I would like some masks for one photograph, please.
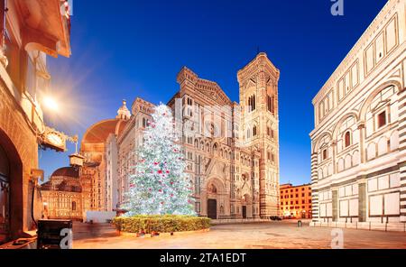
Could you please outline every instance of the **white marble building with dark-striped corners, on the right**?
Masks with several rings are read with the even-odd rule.
[[[406,222],[405,7],[388,1],[313,99],[314,222]]]

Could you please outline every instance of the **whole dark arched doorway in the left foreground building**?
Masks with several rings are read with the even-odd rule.
[[[0,244],[23,232],[23,162],[0,129]]]

